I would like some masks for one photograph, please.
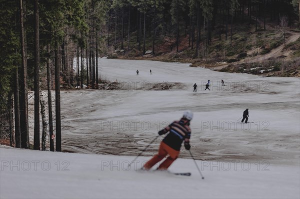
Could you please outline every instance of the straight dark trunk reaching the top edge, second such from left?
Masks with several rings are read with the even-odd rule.
[[[39,10],[34,0],[34,141],[33,149],[40,150],[39,141]]]

